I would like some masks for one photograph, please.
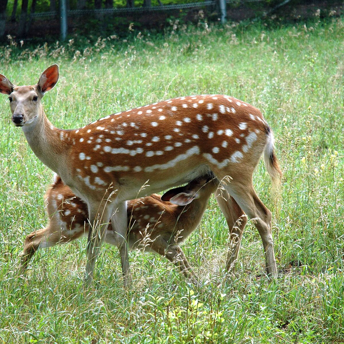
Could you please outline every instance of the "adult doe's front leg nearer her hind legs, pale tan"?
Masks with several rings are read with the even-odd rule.
[[[125,288],[128,288],[131,284],[131,276],[129,268],[128,244],[126,241],[128,227],[127,202],[125,201],[118,203],[114,209],[115,213],[111,217],[111,225],[115,237],[115,243],[121,256],[123,284]]]

